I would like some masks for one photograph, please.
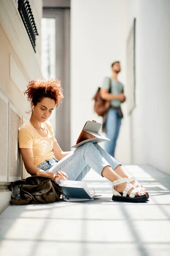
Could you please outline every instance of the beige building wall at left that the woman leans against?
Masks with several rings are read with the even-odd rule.
[[[23,19],[19,2],[32,14],[32,29],[37,28],[35,51]],[[27,1],[28,2],[28,1]],[[31,17],[30,17],[31,18]],[[0,212],[11,199],[8,185],[26,177],[18,148],[18,128],[28,119],[28,103],[23,96],[26,84],[40,77],[42,0],[0,1]],[[35,24],[35,25],[34,25]]]

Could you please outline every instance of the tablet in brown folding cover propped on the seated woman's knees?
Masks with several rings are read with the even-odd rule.
[[[110,141],[108,138],[99,134],[101,126],[102,124],[96,121],[87,121],[78,137],[76,145],[72,146],[71,148],[77,148],[86,142],[100,143],[103,141]]]

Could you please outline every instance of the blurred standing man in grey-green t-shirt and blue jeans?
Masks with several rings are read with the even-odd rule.
[[[111,65],[112,76],[104,79],[100,96],[102,99],[111,102],[105,122],[106,136],[111,140],[105,142],[105,150],[114,157],[116,140],[119,135],[120,125],[122,121],[121,103],[125,102],[123,84],[118,81],[118,74],[121,71],[120,62],[115,61]],[[111,92],[111,93],[109,93]]]

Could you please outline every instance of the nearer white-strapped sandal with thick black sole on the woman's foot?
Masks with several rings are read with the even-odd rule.
[[[117,192],[114,187],[118,186],[119,184],[127,183],[127,186],[125,187],[124,191],[122,193]],[[130,195],[127,195],[127,193],[130,191],[130,189],[133,189],[130,193]],[[132,184],[130,184],[127,181],[127,178],[123,178],[120,180],[114,180],[113,181],[113,201],[123,201],[123,202],[131,202],[131,203],[139,203],[139,202],[145,202],[148,200],[147,195],[136,195],[139,192],[138,189],[136,189]]]

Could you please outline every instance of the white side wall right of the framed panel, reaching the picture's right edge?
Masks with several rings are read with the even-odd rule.
[[[170,173],[170,1],[129,0],[127,12],[127,26],[136,17],[133,161]]]

